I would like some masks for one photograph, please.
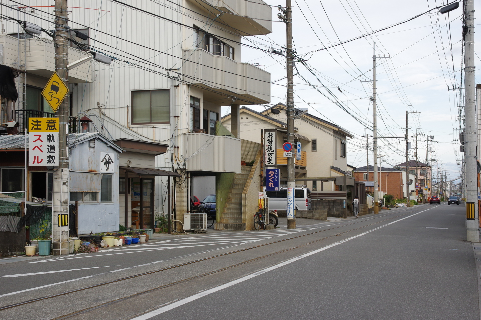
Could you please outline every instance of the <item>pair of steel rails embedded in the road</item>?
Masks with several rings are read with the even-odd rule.
[[[410,209],[410,208],[406,208],[406,209],[403,209],[403,211],[404,211],[404,210],[409,210],[409,209]],[[359,227],[359,228],[354,228],[354,229],[351,229],[351,230],[343,231],[343,232],[340,232],[340,233],[338,233],[338,234],[331,235],[331,236],[329,236],[329,237],[324,237],[324,238],[321,238],[321,239],[317,239],[317,240],[315,240],[315,241],[313,241],[313,242],[304,243],[304,244],[301,244],[301,245],[299,245],[299,246],[295,246],[295,247],[292,247],[292,248],[289,248],[289,249],[285,249],[285,250],[282,250],[282,251],[278,251],[278,252],[275,252],[275,253],[272,253],[272,254],[269,254],[269,255],[266,255],[266,256],[261,256],[261,257],[258,257],[258,258],[252,259],[252,260],[244,261],[244,262],[242,262],[242,263],[240,263],[240,264],[236,264],[236,265],[233,265],[233,266],[229,266],[229,267],[226,267],[226,268],[224,268],[224,269],[215,270],[215,271],[212,271],[212,272],[209,272],[209,273],[206,273],[206,274],[202,274],[202,275],[199,275],[199,276],[196,276],[196,277],[193,277],[193,278],[184,279],[184,280],[181,280],[181,281],[179,281],[179,282],[173,282],[173,283],[167,284],[167,285],[165,285],[165,286],[161,286],[161,287],[153,288],[153,289],[150,289],[150,290],[147,290],[147,291],[143,291],[143,292],[140,292],[140,293],[137,293],[137,294],[133,294],[133,295],[130,295],[130,296],[128,296],[128,297],[121,298],[121,299],[118,299],[118,300],[115,300],[115,301],[111,301],[111,302],[108,302],[108,303],[106,303],[106,304],[102,304],[102,305],[100,305],[100,306],[96,306],[96,307],[93,307],[93,308],[89,308],[89,309],[87,309],[87,310],[80,311],[80,312],[83,313],[83,312],[87,312],[87,311],[93,310],[94,308],[105,307],[105,306],[107,306],[107,304],[111,304],[111,303],[115,303],[115,302],[118,302],[118,301],[122,301],[122,300],[124,300],[124,299],[130,298],[130,297],[133,297],[133,296],[137,296],[137,295],[140,295],[140,294],[145,294],[145,293],[148,293],[148,292],[151,292],[151,291],[154,291],[154,290],[159,290],[159,289],[162,289],[162,288],[165,288],[165,287],[174,285],[174,284],[178,284],[178,283],[190,281],[190,280],[192,280],[192,279],[196,279],[196,278],[199,278],[199,277],[203,277],[203,276],[206,276],[206,275],[209,275],[209,274],[212,274],[212,273],[215,273],[215,272],[219,272],[219,271],[222,271],[222,270],[225,270],[225,269],[234,268],[234,267],[236,267],[236,266],[238,266],[238,265],[241,265],[241,264],[244,264],[244,263],[252,262],[252,261],[255,261],[255,260],[258,260],[258,259],[267,257],[267,256],[272,256],[272,255],[276,255],[276,254],[278,254],[278,253],[282,253],[282,252],[285,252],[285,251],[288,251],[288,250],[296,249],[296,248],[299,248],[299,247],[304,246],[304,245],[307,245],[307,244],[315,243],[315,242],[317,242],[317,241],[329,239],[329,238],[331,238],[331,237],[338,236],[338,235],[341,235],[341,234],[346,233],[346,232],[351,232],[351,231],[354,231],[354,230],[358,230],[358,229],[361,229],[361,228],[365,228],[365,227],[368,227],[368,226],[371,226],[371,225],[374,225],[374,224],[377,224],[377,223],[386,221],[386,220],[390,220],[390,219],[393,219],[393,218],[401,217],[401,216],[404,216],[404,215],[406,215],[406,214],[408,214],[408,213],[410,213],[410,212],[405,212],[405,213],[403,213],[402,215],[399,215],[399,216],[395,216],[395,217],[392,217],[392,218],[388,218],[388,219],[384,219],[384,220],[381,220],[381,221],[377,221],[377,222],[374,222],[374,223],[371,223],[371,224],[368,224],[368,225],[365,225],[365,226],[362,226],[362,227]],[[384,215],[383,217],[388,216],[388,215],[393,215],[393,214],[395,214],[395,213],[393,212],[393,213],[390,213],[390,214],[386,214],[386,215]],[[149,275],[149,274],[156,273],[156,272],[161,272],[161,271],[165,271],[165,270],[169,270],[169,269],[179,268],[179,267],[187,266],[187,265],[190,265],[190,264],[193,264],[193,263],[202,262],[202,261],[205,261],[205,260],[217,258],[217,257],[220,257],[220,256],[227,256],[227,255],[230,255],[230,254],[235,254],[235,253],[238,253],[238,252],[243,252],[243,251],[247,251],[247,250],[259,248],[259,247],[262,247],[262,246],[265,246],[265,245],[269,245],[269,244],[279,243],[279,242],[283,242],[283,241],[288,241],[288,240],[292,240],[292,239],[296,239],[296,238],[308,236],[308,235],[311,235],[311,234],[316,234],[316,233],[323,232],[323,231],[328,231],[328,230],[333,230],[333,229],[337,229],[337,228],[341,228],[341,227],[346,227],[346,226],[350,226],[350,225],[353,225],[353,224],[356,224],[356,223],[360,223],[360,222],[365,222],[365,221],[368,221],[368,220],[372,220],[372,219],[375,219],[375,218],[378,218],[378,217],[368,218],[368,219],[366,219],[366,220],[355,221],[355,222],[348,223],[348,224],[345,224],[345,225],[342,225],[342,226],[337,226],[337,227],[332,227],[332,228],[329,228],[329,229],[323,229],[323,230],[319,230],[319,231],[315,231],[315,232],[310,232],[310,233],[306,233],[306,234],[301,234],[301,235],[298,235],[298,236],[290,237],[290,238],[287,238],[287,239],[281,239],[281,240],[273,241],[273,242],[270,242],[270,243],[259,244],[259,245],[256,245],[256,246],[253,246],[253,247],[250,247],[250,248],[244,248],[244,249],[235,250],[235,251],[232,251],[232,252],[228,252],[228,253],[224,253],[224,254],[220,254],[220,255],[216,255],[216,256],[211,256],[211,257],[206,257],[206,258],[202,258],[202,259],[198,259],[198,260],[194,260],[194,261],[190,261],[190,262],[185,262],[185,263],[181,263],[181,264],[174,265],[174,266],[171,266],[171,267],[166,267],[166,268],[157,269],[157,270],[153,270],[153,271],[143,272],[143,273],[135,274],[135,275],[128,276],[128,277],[119,278],[119,279],[116,279],[116,280],[113,280],[113,281],[101,282],[101,283],[94,284],[94,285],[90,285],[90,286],[87,286],[87,287],[83,287],[83,288],[79,288],[79,289],[75,289],[75,290],[70,290],[70,291],[65,291],[65,292],[62,292],[62,293],[59,293],[59,294],[51,294],[51,295],[44,296],[44,297],[40,297],[40,298],[37,298],[37,299],[27,300],[27,301],[20,302],[20,303],[17,303],[17,304],[5,306],[5,307],[0,307],[0,311],[1,311],[1,310],[5,310],[5,309],[9,309],[9,308],[13,308],[13,307],[23,306],[23,305],[26,305],[26,304],[30,304],[30,303],[37,302],[37,301],[41,301],[41,300],[45,300],[45,299],[50,299],[50,298],[62,296],[62,295],[65,295],[65,294],[72,294],[72,293],[75,293],[75,292],[79,292],[79,291],[83,291],[83,290],[87,290],[87,289],[92,289],[92,288],[100,287],[100,286],[103,286],[103,285],[106,285],[106,284],[110,284],[110,283],[125,281],[125,280],[129,280],[129,279],[133,279],[133,278],[137,278],[137,277]],[[76,314],[78,314],[78,313],[76,313]],[[69,315],[69,316],[67,316],[67,317],[58,318],[58,319],[66,319],[66,318],[72,317],[72,316],[74,316],[74,315],[75,315],[75,314],[72,314],[72,315]]]

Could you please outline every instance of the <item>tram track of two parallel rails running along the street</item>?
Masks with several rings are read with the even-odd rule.
[[[283,252],[286,252],[286,251],[290,251],[290,250],[293,250],[293,249],[297,249],[297,248],[300,248],[300,247],[305,246],[305,245],[308,245],[308,244],[312,244],[312,243],[316,243],[316,242],[319,242],[319,241],[322,241],[322,240],[326,240],[326,239],[329,239],[329,238],[332,238],[332,237],[340,236],[340,235],[342,235],[342,234],[344,234],[344,233],[347,233],[347,232],[352,232],[352,231],[354,231],[354,230],[359,230],[359,229],[362,229],[362,228],[366,228],[366,227],[369,227],[369,226],[372,226],[372,225],[375,225],[375,224],[378,224],[378,223],[381,223],[381,222],[384,222],[384,221],[387,221],[387,220],[391,220],[391,219],[394,219],[394,218],[402,217],[402,216],[405,216],[405,215],[407,215],[407,214],[410,214],[410,213],[412,213],[412,212],[414,212],[414,211],[415,211],[415,210],[406,208],[406,209],[403,210],[403,214],[401,214],[401,215],[397,215],[397,216],[394,216],[394,217],[391,217],[391,218],[387,218],[387,219],[383,219],[383,220],[380,220],[380,221],[376,221],[376,222],[373,222],[373,223],[370,223],[370,224],[367,224],[367,225],[363,225],[363,226],[360,226],[360,227],[358,227],[358,228],[346,230],[346,231],[343,231],[343,232],[340,232],[340,233],[337,233],[337,234],[333,234],[333,235],[330,235],[330,236],[327,236],[327,237],[323,237],[323,238],[320,238],[320,239],[316,239],[316,240],[314,240],[314,241],[311,241],[311,242],[308,242],[308,243],[303,243],[303,244],[300,244],[300,245],[297,245],[297,246],[294,246],[294,247],[291,247],[291,248],[288,248],[288,249],[280,250],[280,251],[277,251],[277,252],[274,252],[274,253],[271,253],[271,254],[268,254],[268,255],[265,255],[265,256],[259,256],[259,257],[256,257],[256,258],[253,258],[253,259],[250,259],[250,260],[247,260],[247,261],[243,261],[243,262],[241,262],[241,263],[237,263],[237,264],[228,266],[228,267],[226,267],[226,268],[217,269],[217,270],[214,270],[214,271],[211,271],[211,272],[207,272],[207,273],[204,273],[204,274],[195,276],[195,277],[191,277],[191,278],[184,279],[184,280],[180,280],[180,281],[177,281],[177,282],[172,282],[172,283],[169,283],[169,284],[166,284],[166,285],[163,285],[163,286],[155,287],[155,288],[152,288],[152,289],[143,291],[143,292],[139,292],[139,293],[136,293],[136,294],[132,294],[132,295],[129,295],[129,296],[124,297],[124,298],[120,298],[120,299],[117,299],[117,300],[114,300],[114,301],[110,301],[110,302],[101,304],[101,305],[99,305],[99,306],[91,307],[91,308],[88,308],[88,309],[85,309],[85,310],[81,310],[81,311],[72,313],[72,314],[70,314],[70,315],[62,316],[62,317],[60,317],[60,318],[55,318],[55,319],[57,319],[57,320],[68,319],[68,318],[74,317],[74,316],[76,316],[76,315],[79,315],[79,314],[82,314],[82,313],[86,313],[86,312],[95,310],[95,309],[97,309],[97,308],[106,307],[106,306],[108,306],[108,305],[111,305],[111,304],[114,304],[114,303],[117,303],[117,302],[120,302],[120,301],[125,301],[125,300],[127,300],[127,299],[132,298],[132,297],[136,297],[136,296],[139,296],[139,295],[142,295],[142,294],[147,294],[147,293],[150,293],[150,292],[153,292],[153,291],[156,291],[156,290],[161,290],[161,289],[164,289],[164,288],[167,288],[167,287],[176,285],[176,284],[180,284],[180,283],[183,283],[183,282],[188,282],[188,281],[191,281],[191,280],[194,280],[194,279],[198,279],[198,278],[201,278],[201,277],[205,277],[205,276],[207,276],[207,275],[211,275],[211,274],[214,274],[214,273],[217,273],[217,272],[221,272],[221,271],[224,271],[224,270],[227,270],[227,269],[232,269],[232,268],[235,268],[235,267],[238,267],[238,266],[241,266],[241,265],[244,265],[244,264],[247,264],[247,263],[256,261],[256,260],[260,260],[260,259],[263,259],[263,258],[266,258],[266,257],[269,257],[269,256],[274,256],[274,255],[277,255],[277,254],[280,254],[280,253],[283,253]],[[386,215],[382,216],[382,218],[384,218],[384,217],[386,217],[386,216],[394,215],[394,214],[396,214],[396,213],[397,213],[397,212],[393,212],[393,213],[391,213],[391,214],[386,214]],[[253,246],[253,247],[243,248],[243,249],[235,250],[235,251],[232,251],[232,252],[223,253],[223,254],[220,254],[220,255],[215,255],[215,256],[210,256],[210,257],[206,257],[206,258],[202,258],[202,259],[197,259],[197,260],[193,260],[193,261],[189,261],[189,262],[186,262],[186,263],[177,264],[177,265],[170,266],[170,267],[166,267],[166,268],[162,268],[162,269],[156,269],[156,270],[152,270],[152,271],[148,271],[148,272],[142,272],[142,273],[135,274],[135,275],[132,275],[132,276],[128,276],[128,277],[124,277],[124,278],[119,278],[119,279],[116,279],[116,280],[113,280],[113,281],[101,282],[101,283],[98,283],[98,284],[95,284],[95,285],[90,285],[90,286],[78,288],[78,289],[75,289],[75,290],[65,291],[65,292],[58,293],[58,294],[51,294],[51,295],[48,295],[48,296],[44,296],[44,297],[40,297],[40,298],[36,298],[36,299],[32,299],[32,300],[27,300],[27,301],[24,301],[24,302],[20,302],[20,303],[17,303],[17,304],[5,306],[5,307],[0,307],[0,311],[6,310],[6,309],[9,309],[9,308],[13,308],[13,307],[20,307],[20,306],[23,306],[23,305],[27,305],[27,304],[31,304],[31,303],[37,302],[37,301],[42,301],[42,300],[46,300],[46,299],[51,299],[51,298],[58,297],[58,296],[62,296],[62,295],[66,295],[66,294],[72,294],[72,293],[76,293],[76,292],[79,292],[79,291],[84,291],[84,290],[88,290],[88,289],[93,289],[93,288],[96,288],[96,287],[100,287],[100,286],[107,285],[107,284],[111,284],[111,283],[115,283],[115,282],[121,282],[121,281],[129,280],[129,279],[133,279],[133,278],[137,278],[137,277],[141,277],[141,276],[145,276],[145,275],[157,273],[157,272],[162,272],[162,271],[169,270],[169,269],[175,269],[175,268],[187,266],[187,265],[190,265],[190,264],[194,264],[194,263],[198,263],[198,262],[202,262],[202,261],[214,259],[214,258],[221,257],[221,256],[227,256],[227,255],[231,255],[231,254],[235,254],[235,253],[240,253],[240,252],[243,252],[243,251],[247,251],[247,250],[251,250],[251,249],[263,247],[263,246],[270,245],[270,244],[274,244],[274,243],[280,243],[280,242],[284,242],[284,241],[288,241],[288,240],[293,240],[293,239],[301,238],[301,237],[308,236],[308,235],[313,235],[313,234],[320,233],[320,232],[324,232],[324,231],[334,230],[334,229],[338,229],[338,228],[342,228],[342,227],[348,227],[348,226],[350,226],[350,225],[354,225],[354,224],[357,224],[357,223],[366,222],[366,221],[368,221],[368,220],[377,219],[377,218],[379,218],[379,216],[377,216],[377,217],[372,217],[372,218],[368,218],[368,219],[365,219],[365,220],[355,221],[355,222],[348,223],[348,224],[343,224],[343,225],[336,226],[336,227],[332,227],[332,228],[328,228],[328,229],[318,230],[318,231],[315,231],[315,232],[309,232],[309,233],[297,235],[297,236],[294,236],[294,237],[290,237],[290,238],[286,238],[286,239],[281,239],[281,240],[278,240],[278,241],[273,241],[273,242],[269,242],[269,243],[263,243],[263,244],[259,244],[259,245]]]

